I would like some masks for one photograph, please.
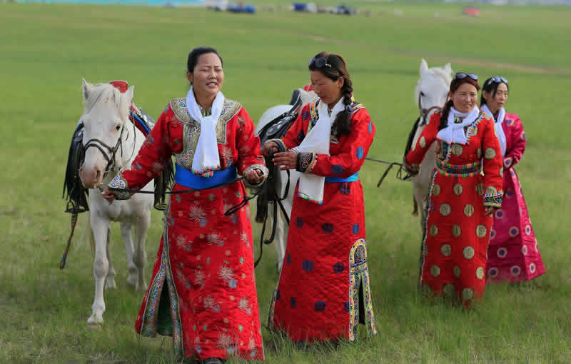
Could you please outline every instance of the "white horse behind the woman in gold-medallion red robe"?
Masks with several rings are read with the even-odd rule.
[[[430,116],[436,111],[434,107],[441,108],[448,99],[450,82],[452,81],[452,67],[446,64],[444,67],[428,68],[428,64],[423,59],[420,61],[420,79],[415,87],[415,102],[418,105],[420,121],[414,133],[413,148],[420,138],[424,127],[430,121]],[[420,207],[420,227],[424,231],[424,221],[426,218],[426,196],[430,185],[430,176],[433,173],[436,163],[436,143],[430,146],[423,162],[420,163],[418,175],[411,178],[413,182],[413,215],[418,214]]]

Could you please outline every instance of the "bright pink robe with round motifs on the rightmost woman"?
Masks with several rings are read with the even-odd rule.
[[[525,151],[523,125],[515,113],[506,113],[502,128],[506,138],[503,161],[505,194],[490,231],[487,283],[520,282],[545,273],[520,181],[513,168]]]

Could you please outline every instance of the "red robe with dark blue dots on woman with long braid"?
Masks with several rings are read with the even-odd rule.
[[[306,105],[285,137],[282,149],[298,146],[318,121],[318,100]],[[303,172],[348,178],[368,153],[375,126],[365,106],[351,106],[351,131],[335,137],[330,155],[303,153]],[[271,301],[269,325],[294,342],[347,338],[358,323],[376,333],[365,244],[365,211],[360,181],[325,180],[323,204],[295,194],[288,245],[278,287]]]

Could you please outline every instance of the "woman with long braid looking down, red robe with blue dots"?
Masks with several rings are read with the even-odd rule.
[[[359,323],[376,333],[358,180],[375,126],[365,106],[351,101],[341,56],[317,54],[309,70],[319,99],[262,151],[278,152],[273,163],[281,169],[303,173],[269,325],[294,342],[355,340]]]

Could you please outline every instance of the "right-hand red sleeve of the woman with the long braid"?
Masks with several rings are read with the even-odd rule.
[[[359,171],[375,136],[375,126],[367,109],[361,108],[351,116],[351,131],[343,136],[341,152],[334,156],[318,154],[311,173],[318,176],[347,178]]]

